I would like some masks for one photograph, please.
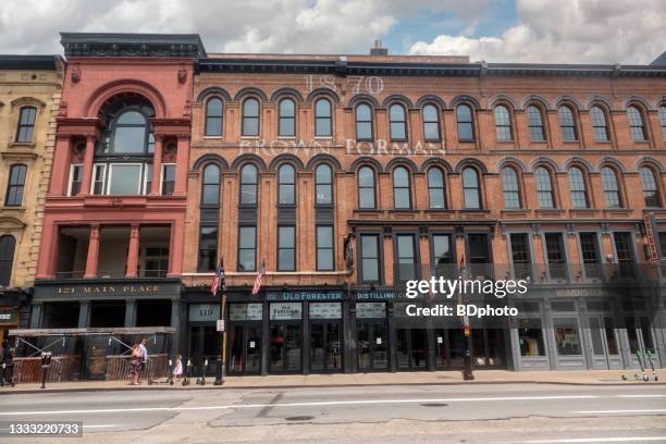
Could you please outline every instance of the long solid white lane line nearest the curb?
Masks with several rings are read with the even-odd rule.
[[[197,406],[197,407],[134,407],[134,408],[102,408],[88,410],[32,410],[32,411],[0,411],[0,416],[20,415],[78,415],[78,414],[115,414],[127,411],[180,411],[180,410],[217,410],[234,408],[266,408],[266,407],[318,407],[318,406],[348,406],[372,404],[415,404],[415,403],[469,403],[469,402],[497,402],[497,400],[553,400],[553,399],[595,399],[600,395],[562,395],[562,396],[502,396],[478,398],[419,398],[419,399],[361,399],[361,400],[323,400],[314,403],[280,403],[280,404],[237,404],[229,406]]]

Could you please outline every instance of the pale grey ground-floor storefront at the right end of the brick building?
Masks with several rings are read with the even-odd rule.
[[[650,292],[648,292],[650,293]],[[511,353],[516,370],[639,368],[651,350],[664,365],[659,298],[644,289],[578,287],[533,289],[516,300]],[[663,303],[662,303],[663,304]]]

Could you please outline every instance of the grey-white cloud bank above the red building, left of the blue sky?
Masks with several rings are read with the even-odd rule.
[[[365,53],[398,20],[492,0],[3,0],[0,52],[60,52],[58,33],[199,33],[209,51]]]

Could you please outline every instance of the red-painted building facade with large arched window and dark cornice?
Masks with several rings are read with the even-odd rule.
[[[30,326],[176,324],[200,40],[62,34],[61,41],[67,65]],[[107,353],[98,342],[107,338],[84,346]]]

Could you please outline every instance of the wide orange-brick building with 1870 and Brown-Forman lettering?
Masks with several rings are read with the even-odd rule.
[[[410,325],[399,288],[460,264],[531,280],[472,322],[477,368],[664,365],[659,280],[629,278],[665,237],[665,92],[658,65],[199,60],[181,349],[217,354],[223,257],[230,373],[459,368],[460,325]]]

